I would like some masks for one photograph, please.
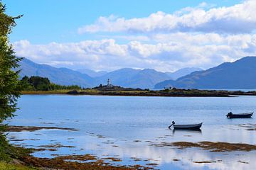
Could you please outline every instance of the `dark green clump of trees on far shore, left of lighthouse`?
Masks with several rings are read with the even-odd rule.
[[[46,77],[23,77],[21,79],[21,84],[23,86],[23,90],[25,91],[51,91],[51,90],[79,90],[80,86],[72,85],[72,86],[63,86],[58,84],[53,84]]]

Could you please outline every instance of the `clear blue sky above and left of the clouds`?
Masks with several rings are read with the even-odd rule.
[[[215,6],[232,6],[238,0],[4,0],[7,13],[12,16],[23,14],[11,34],[11,42],[29,40],[33,43],[78,42],[98,40],[97,35],[78,35],[80,26],[94,23],[100,16],[142,18],[163,11],[172,13],[186,6],[198,6],[202,2]]]

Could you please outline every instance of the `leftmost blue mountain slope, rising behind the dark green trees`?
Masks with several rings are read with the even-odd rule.
[[[51,82],[61,85],[78,85],[82,87],[92,87],[95,85],[95,80],[87,74],[73,71],[66,68],[55,68],[46,64],[36,64],[31,60],[24,58],[20,63],[20,77],[24,76],[39,76],[48,77]]]

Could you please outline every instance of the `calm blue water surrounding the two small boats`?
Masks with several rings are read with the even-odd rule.
[[[252,169],[256,152],[208,152],[202,149],[154,147],[160,142],[242,142],[256,145],[256,131],[238,125],[256,124],[254,118],[228,119],[228,111],[256,111],[255,96],[139,97],[26,95],[18,101],[16,118],[10,125],[75,128],[10,132],[9,139],[24,147],[60,143],[57,151],[36,152],[36,157],[55,154],[95,154],[118,157],[117,164],[156,163],[157,169]],[[199,131],[174,131],[171,121],[201,123]],[[13,138],[12,138],[13,137]],[[14,140],[23,141],[14,141]],[[70,147],[68,147],[70,146]],[[137,159],[137,162],[134,162]],[[141,160],[140,160],[141,159]],[[178,161],[174,161],[178,159]],[[194,162],[210,161],[198,164]],[[232,168],[233,167],[233,168]]]

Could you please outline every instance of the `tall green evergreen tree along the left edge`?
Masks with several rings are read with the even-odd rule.
[[[21,94],[18,81],[18,68],[21,57],[16,57],[13,47],[9,44],[8,35],[16,26],[18,17],[6,15],[6,8],[0,1],[0,123],[14,117],[17,110],[17,99]],[[1,131],[1,130],[0,130]]]

